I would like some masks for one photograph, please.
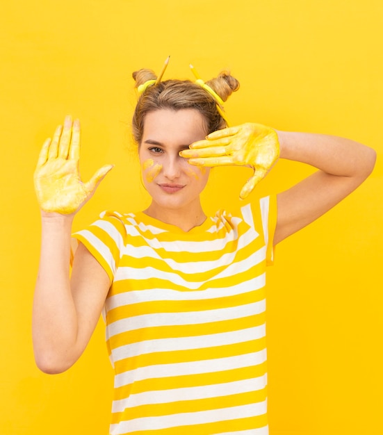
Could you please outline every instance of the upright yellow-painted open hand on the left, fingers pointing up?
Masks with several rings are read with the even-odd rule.
[[[65,117],[52,139],[42,145],[34,182],[42,211],[68,215],[78,211],[92,197],[113,165],[101,167],[87,183],[79,174],[80,122]]]

